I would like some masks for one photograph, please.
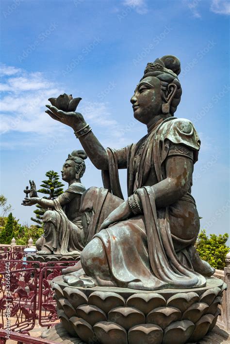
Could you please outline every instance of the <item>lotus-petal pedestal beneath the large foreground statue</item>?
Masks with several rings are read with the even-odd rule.
[[[226,284],[210,278],[206,287],[193,289],[84,289],[59,276],[52,287],[63,328],[83,343],[183,344],[214,328]]]

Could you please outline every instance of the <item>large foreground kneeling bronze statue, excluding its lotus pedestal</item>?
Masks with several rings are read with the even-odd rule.
[[[81,263],[64,271],[69,285],[192,288],[205,286],[204,276],[214,273],[194,248],[199,217],[191,186],[200,140],[189,120],[173,117],[182,94],[180,70],[171,55],[148,63],[131,97],[134,117],[148,133],[122,149],[104,149],[82,114],[47,105],[53,119],[74,129],[104,184],[82,195],[87,245]],[[118,177],[124,168],[127,201]]]

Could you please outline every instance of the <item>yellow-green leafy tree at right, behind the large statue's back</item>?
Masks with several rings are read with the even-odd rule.
[[[226,254],[229,252],[229,247],[226,245],[228,238],[229,235],[227,233],[223,235],[211,234],[208,237],[206,231],[203,229],[199,233],[195,245],[200,258],[214,268],[223,270],[226,266]]]

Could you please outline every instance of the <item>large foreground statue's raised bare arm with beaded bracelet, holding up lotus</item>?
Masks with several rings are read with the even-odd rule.
[[[46,113],[51,118],[73,128],[76,137],[80,140],[83,149],[94,166],[99,170],[108,170],[106,150],[87,125],[82,114],[79,112],[65,112],[50,105],[46,106],[49,109],[46,110]]]

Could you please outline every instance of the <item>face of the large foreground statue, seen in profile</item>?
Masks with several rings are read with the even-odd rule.
[[[139,122],[148,124],[153,116],[162,113],[160,80],[155,77],[141,80],[130,101],[134,117]]]

